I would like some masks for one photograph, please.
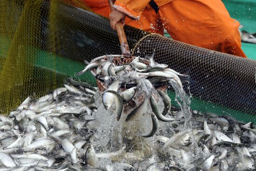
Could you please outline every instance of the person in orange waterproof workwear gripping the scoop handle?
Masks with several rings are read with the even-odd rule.
[[[246,58],[239,22],[230,17],[221,0],[116,0],[110,13],[108,0],[81,0],[94,13],[178,41]]]

